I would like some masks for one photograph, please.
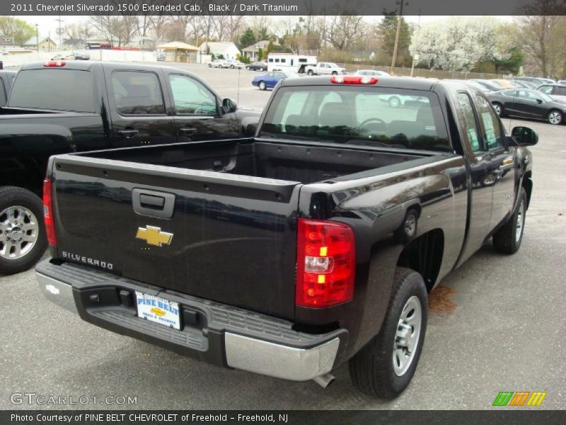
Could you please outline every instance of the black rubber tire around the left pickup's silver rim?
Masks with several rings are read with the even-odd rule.
[[[24,188],[15,186],[4,186],[0,188],[0,220],[3,219],[3,211],[13,206],[21,206],[33,212],[37,220],[37,239],[32,248],[23,256],[17,259],[5,258],[0,255],[0,274],[20,273],[28,270],[39,261],[47,249],[47,236],[45,235],[45,224],[43,222],[43,203],[34,193]],[[1,230],[1,229],[0,229]],[[5,232],[4,230],[3,232]],[[4,234],[6,237],[7,233]],[[0,252],[8,247],[6,238],[0,240]]]

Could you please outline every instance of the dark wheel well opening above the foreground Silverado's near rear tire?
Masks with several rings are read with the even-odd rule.
[[[422,234],[405,246],[397,266],[411,268],[420,273],[430,291],[437,281],[444,255],[444,232],[434,229]]]

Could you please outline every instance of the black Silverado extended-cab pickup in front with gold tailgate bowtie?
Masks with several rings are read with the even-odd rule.
[[[490,237],[519,249],[537,141],[466,84],[285,79],[253,138],[52,157],[40,290],[229,368],[325,386],[350,361],[395,397],[427,293]]]

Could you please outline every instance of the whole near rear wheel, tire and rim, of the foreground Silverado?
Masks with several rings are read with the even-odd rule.
[[[397,268],[379,334],[350,359],[350,377],[366,395],[392,399],[415,374],[427,330],[427,288],[422,276]]]

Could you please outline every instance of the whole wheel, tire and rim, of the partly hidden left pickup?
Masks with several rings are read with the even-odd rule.
[[[0,188],[0,273],[27,270],[46,248],[42,200],[23,188]]]

